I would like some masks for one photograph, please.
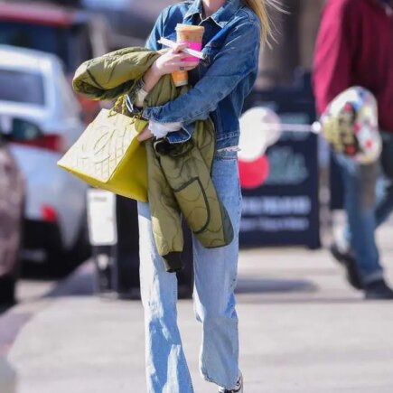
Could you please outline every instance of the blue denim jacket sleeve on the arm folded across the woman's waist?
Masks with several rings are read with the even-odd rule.
[[[220,100],[227,97],[239,81],[257,67],[259,45],[259,23],[250,23],[249,20],[239,23],[229,33],[210,68],[193,89],[164,106],[145,108],[143,116],[161,123],[182,122],[182,134],[185,131],[190,138],[192,123],[207,119]],[[180,141],[178,138],[169,139],[170,142]]]

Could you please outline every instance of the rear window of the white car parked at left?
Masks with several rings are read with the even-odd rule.
[[[0,101],[45,104],[42,75],[34,72],[0,69]]]

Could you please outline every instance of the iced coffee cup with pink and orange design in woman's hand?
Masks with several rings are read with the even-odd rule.
[[[195,51],[201,51],[202,48],[202,37],[205,32],[203,26],[193,26],[191,24],[177,23],[176,26],[176,41],[179,43],[187,43],[188,48]],[[198,61],[199,59],[193,56],[186,57],[183,61]],[[188,72],[187,71],[175,71],[172,74],[174,84],[184,86],[188,84]]]

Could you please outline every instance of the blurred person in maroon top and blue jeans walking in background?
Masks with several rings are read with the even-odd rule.
[[[327,0],[314,52],[319,114],[343,90],[369,89],[379,105],[383,150],[378,163],[335,154],[344,186],[346,228],[331,246],[352,286],[366,299],[393,299],[384,279],[375,231],[393,209],[393,0]],[[379,174],[384,175],[379,190]],[[378,179],[379,178],[379,179]],[[378,192],[380,191],[380,192]]]

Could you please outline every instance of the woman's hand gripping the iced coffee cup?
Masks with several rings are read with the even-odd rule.
[[[199,61],[183,61],[189,54],[182,52],[187,48],[186,43],[178,43],[173,49],[165,51],[152,65],[152,71],[156,76],[162,77],[166,74],[172,74],[178,70],[193,70],[198,66]]]

